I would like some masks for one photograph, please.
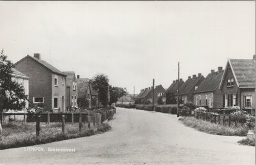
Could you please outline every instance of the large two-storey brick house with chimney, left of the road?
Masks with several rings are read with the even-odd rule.
[[[38,53],[34,57],[25,56],[14,66],[29,77],[29,102],[43,103],[54,112],[65,112],[67,75],[42,60]]]

